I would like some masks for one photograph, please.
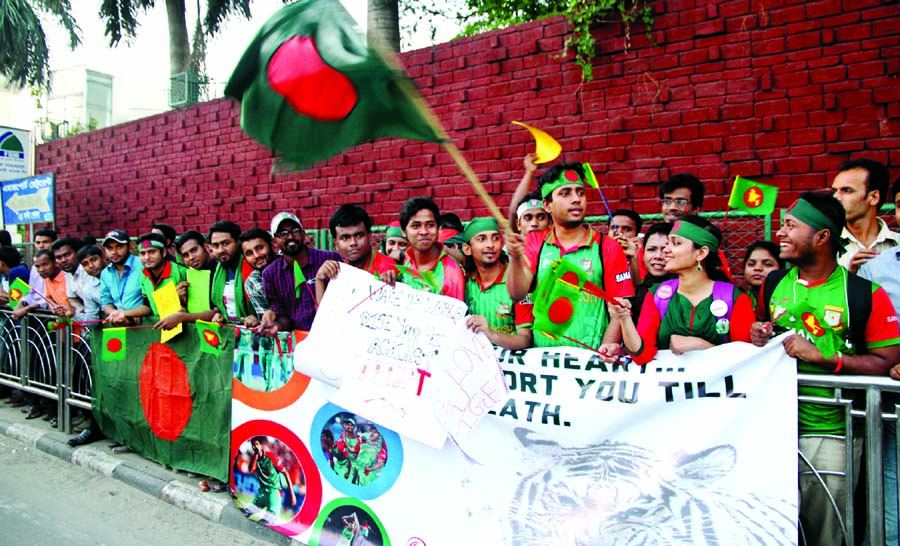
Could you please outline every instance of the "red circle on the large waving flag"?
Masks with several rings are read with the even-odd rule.
[[[359,99],[353,82],[325,64],[311,36],[294,36],[282,43],[266,76],[272,89],[298,113],[318,121],[344,119]]]

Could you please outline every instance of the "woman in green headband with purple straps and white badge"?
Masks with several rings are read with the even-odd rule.
[[[675,354],[730,341],[750,341],[754,312],[750,297],[719,270],[722,232],[699,216],[675,223],[665,250],[666,272],[676,279],[659,284],[644,298],[635,326],[631,306],[609,306],[622,325],[622,341],[634,361],[646,364],[660,349]]]

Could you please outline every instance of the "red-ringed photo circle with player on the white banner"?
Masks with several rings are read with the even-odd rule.
[[[309,450],[289,429],[261,420],[237,427],[231,465],[235,504],[249,519],[288,536],[312,525],[322,481]]]

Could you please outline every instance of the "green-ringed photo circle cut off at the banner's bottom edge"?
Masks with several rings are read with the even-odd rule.
[[[358,499],[335,499],[316,518],[309,546],[390,546],[381,520]]]

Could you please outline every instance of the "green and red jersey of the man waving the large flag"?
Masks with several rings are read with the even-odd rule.
[[[587,280],[599,286],[613,297],[634,295],[628,259],[614,239],[604,237],[588,228],[584,237],[571,248],[562,248],[553,228],[528,234],[525,243],[526,266],[537,279],[535,293],[544,293],[542,283],[555,282],[552,276],[554,264],[560,260],[579,268]],[[534,315],[546,313],[549,302],[535,301]],[[587,292],[581,292],[578,312],[571,325],[556,339],[535,332],[536,347],[579,346],[566,340],[569,337],[591,347],[599,347],[609,325],[606,302]]]

